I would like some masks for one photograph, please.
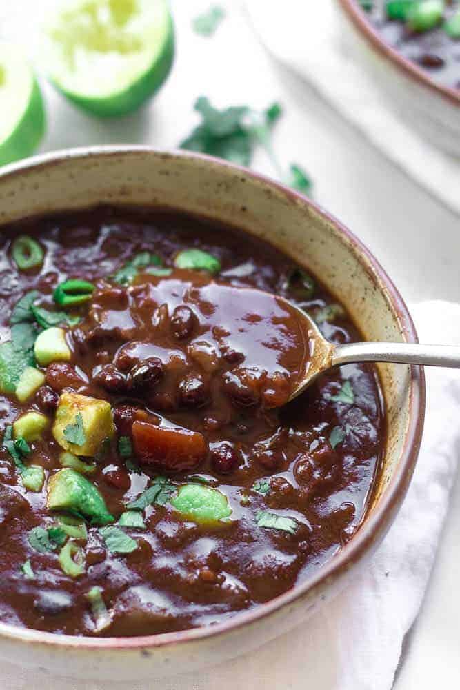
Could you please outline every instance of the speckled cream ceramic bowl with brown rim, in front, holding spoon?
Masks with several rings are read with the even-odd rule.
[[[248,170],[143,147],[64,151],[0,170],[0,226],[101,202],[168,206],[239,226],[321,276],[368,339],[417,339],[396,288],[357,238],[305,197]],[[381,365],[379,371],[388,415],[383,472],[360,529],[310,580],[226,622],[151,637],[77,638],[0,623],[0,656],[72,678],[151,680],[248,653],[308,618],[377,547],[403,501],[417,460],[423,373],[394,365]]]

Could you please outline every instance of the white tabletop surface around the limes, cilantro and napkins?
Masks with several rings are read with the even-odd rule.
[[[0,33],[14,37],[21,26],[23,37],[26,18],[33,32],[37,12],[41,14],[49,3],[19,0],[14,8],[5,3],[0,20],[7,11],[8,21],[0,23]],[[86,117],[46,88],[49,124],[42,150],[114,142],[171,148],[194,124],[192,104],[198,95],[208,95],[219,106],[263,107],[279,100],[285,114],[277,126],[274,147],[283,165],[297,161],[310,171],[317,201],[369,246],[406,299],[460,301],[460,218],[374,152],[306,83],[277,67],[254,40],[237,0],[226,3],[228,17],[214,39],[197,37],[190,28],[190,17],[196,8],[208,7],[206,0],[173,0],[172,4],[179,24],[179,51],[172,77],[154,104],[122,121],[104,122]],[[235,28],[241,36],[238,45]],[[273,174],[262,155],[256,157],[254,167]],[[457,482],[439,558],[397,690],[459,685],[459,535]]]

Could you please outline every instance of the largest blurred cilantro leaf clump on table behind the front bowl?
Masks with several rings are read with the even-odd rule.
[[[277,103],[261,113],[248,106],[217,110],[201,96],[194,109],[201,115],[201,124],[181,142],[181,148],[208,153],[243,166],[250,164],[256,144],[264,146],[272,155],[271,128],[281,113]]]

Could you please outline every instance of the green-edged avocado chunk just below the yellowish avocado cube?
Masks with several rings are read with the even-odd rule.
[[[114,522],[99,490],[70,467],[52,475],[47,486],[48,508],[84,515],[94,524]]]

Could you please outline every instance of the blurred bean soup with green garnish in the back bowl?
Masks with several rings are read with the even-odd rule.
[[[460,91],[457,0],[357,0],[383,41],[432,79]]]

